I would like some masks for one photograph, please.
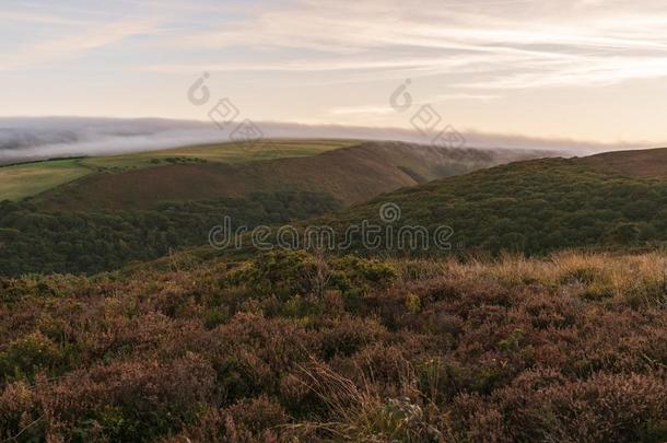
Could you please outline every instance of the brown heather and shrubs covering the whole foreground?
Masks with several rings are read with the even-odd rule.
[[[667,257],[0,280],[0,439],[667,439]]]

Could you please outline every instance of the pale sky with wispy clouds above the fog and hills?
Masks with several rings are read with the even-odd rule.
[[[0,0],[0,24],[1,117],[207,121],[224,98],[254,121],[667,141],[664,0]]]

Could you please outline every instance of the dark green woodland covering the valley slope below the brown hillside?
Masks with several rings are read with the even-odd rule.
[[[47,212],[0,202],[0,275],[94,273],[169,249],[202,245],[225,215],[234,228],[284,223],[339,208],[330,195],[255,194],[247,198],[165,203],[154,210]]]

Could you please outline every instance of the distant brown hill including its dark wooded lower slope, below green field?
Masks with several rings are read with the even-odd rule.
[[[227,145],[190,148],[179,155],[169,150],[164,158],[63,161],[73,167],[106,166],[23,201],[0,202],[0,275],[112,270],[204,245],[224,215],[234,226],[291,223],[391,189],[543,154],[389,142],[332,149],[340,143],[348,142],[274,142],[271,149],[282,145],[282,155],[311,156],[257,161],[279,154],[268,145],[255,153]],[[194,156],[198,150],[208,158]],[[326,152],[313,155],[318,151]],[[153,163],[149,158],[164,162],[147,167]]]

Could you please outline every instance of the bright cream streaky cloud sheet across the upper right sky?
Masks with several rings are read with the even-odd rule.
[[[185,36],[180,45],[284,50],[271,62],[200,67],[207,70],[372,70],[397,79],[446,75],[449,85],[489,90],[606,85],[667,77],[667,5],[654,0],[423,0],[419,5],[301,0],[249,10],[222,30]],[[294,49],[314,55],[294,58]],[[153,67],[185,68],[197,70]]]

